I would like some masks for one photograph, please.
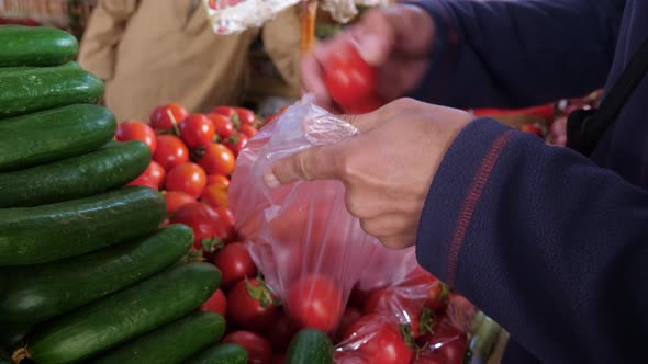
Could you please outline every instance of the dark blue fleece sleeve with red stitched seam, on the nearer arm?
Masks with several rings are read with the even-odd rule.
[[[469,124],[416,251],[543,363],[646,362],[648,193],[570,149]]]

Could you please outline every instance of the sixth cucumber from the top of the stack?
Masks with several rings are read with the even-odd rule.
[[[85,255],[0,269],[0,322],[33,325],[68,312],[171,266],[192,242],[191,228],[171,225]]]

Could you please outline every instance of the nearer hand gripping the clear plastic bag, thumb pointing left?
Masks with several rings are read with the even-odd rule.
[[[434,174],[474,116],[402,99],[372,113],[342,117],[360,133],[277,161],[264,175],[266,184],[339,180],[347,209],[367,234],[388,248],[413,246]]]

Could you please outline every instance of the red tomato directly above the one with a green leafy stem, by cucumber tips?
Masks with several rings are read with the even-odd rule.
[[[245,277],[254,278],[257,275],[257,266],[242,242],[225,246],[217,252],[213,263],[223,274],[222,286],[225,288]]]

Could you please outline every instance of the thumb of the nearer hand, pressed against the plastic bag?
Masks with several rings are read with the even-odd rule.
[[[332,180],[339,177],[339,144],[317,146],[275,162],[264,174],[270,189],[300,180]]]

